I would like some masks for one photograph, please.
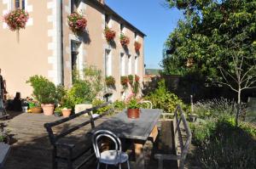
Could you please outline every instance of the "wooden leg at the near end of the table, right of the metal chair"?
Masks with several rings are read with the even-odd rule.
[[[135,142],[135,157],[136,157],[136,169],[144,169],[144,152],[143,152],[143,143]]]

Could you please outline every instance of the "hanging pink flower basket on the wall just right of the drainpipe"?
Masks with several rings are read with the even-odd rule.
[[[67,23],[69,25],[69,29],[73,31],[74,34],[78,35],[84,31],[87,25],[87,20],[82,14],[74,12],[67,16]]]

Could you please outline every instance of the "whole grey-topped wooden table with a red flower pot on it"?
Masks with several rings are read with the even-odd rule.
[[[162,110],[141,109],[139,118],[130,119],[126,115],[126,110],[124,110],[117,115],[113,115],[108,121],[104,121],[92,132],[100,129],[109,130],[115,133],[119,138],[133,140],[136,155],[136,168],[144,169],[143,145],[148,138],[153,138],[153,141],[155,140],[158,134],[156,123],[161,113]]]

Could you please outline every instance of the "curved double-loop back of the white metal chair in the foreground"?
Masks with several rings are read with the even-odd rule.
[[[108,130],[98,130],[94,132],[92,136],[92,144],[93,144],[93,149],[96,154],[96,158],[100,159],[101,158],[101,151],[99,148],[100,138],[110,138],[113,141],[114,144],[114,149],[117,151],[117,154],[122,151],[122,144],[120,139],[113,133]]]

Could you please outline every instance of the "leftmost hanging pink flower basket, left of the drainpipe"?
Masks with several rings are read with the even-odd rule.
[[[9,26],[11,31],[25,29],[28,18],[29,14],[24,9],[20,8],[16,8],[3,16],[4,22]]]

